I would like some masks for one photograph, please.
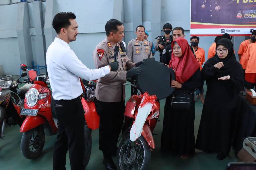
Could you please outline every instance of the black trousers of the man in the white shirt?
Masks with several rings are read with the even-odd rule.
[[[53,170],[65,170],[69,150],[71,170],[84,170],[84,112],[80,96],[72,100],[51,101],[58,119],[57,140],[53,152]]]

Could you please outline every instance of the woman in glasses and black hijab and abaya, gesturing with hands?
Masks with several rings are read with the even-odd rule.
[[[217,159],[222,160],[230,152],[236,101],[244,84],[242,67],[229,39],[217,42],[216,54],[204,64],[202,76],[207,91],[196,148],[217,152]]]

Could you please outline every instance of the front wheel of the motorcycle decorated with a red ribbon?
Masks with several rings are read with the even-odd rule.
[[[129,141],[130,135],[127,135],[118,147],[119,170],[146,170],[151,158],[151,151],[146,145],[144,137],[140,136],[135,142],[131,142],[126,155]]]

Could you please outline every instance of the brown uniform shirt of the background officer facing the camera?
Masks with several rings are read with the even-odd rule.
[[[127,46],[127,56],[132,62],[140,62],[146,58],[152,58],[150,42],[142,39],[132,39]]]

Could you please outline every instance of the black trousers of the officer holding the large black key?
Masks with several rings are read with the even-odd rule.
[[[104,156],[116,156],[118,136],[124,119],[124,101],[97,101],[96,108],[100,116],[99,149]]]

